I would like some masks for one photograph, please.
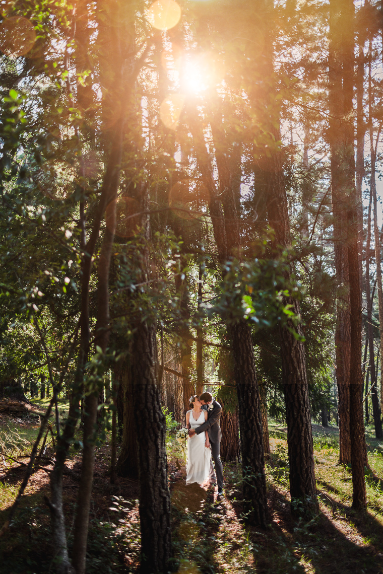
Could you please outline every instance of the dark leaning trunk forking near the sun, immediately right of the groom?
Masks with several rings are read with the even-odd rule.
[[[223,190],[222,204],[216,189],[212,165],[208,156],[202,125],[196,110],[188,110],[196,156],[204,185],[208,190],[208,206],[218,249],[220,264],[227,261],[228,255],[239,252],[238,216],[235,208],[233,178],[225,158],[225,136],[219,122],[214,123],[216,161],[219,166],[220,189]],[[225,213],[225,218],[224,218]],[[262,422],[260,395],[254,364],[252,333],[244,320],[230,325],[233,342],[235,383],[238,395],[238,418],[241,432],[243,497],[245,511],[253,524],[266,526],[268,510],[266,499],[266,479],[262,444]]]

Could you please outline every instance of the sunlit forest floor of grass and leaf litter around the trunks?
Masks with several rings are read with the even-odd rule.
[[[30,443],[47,401],[34,401],[28,416],[0,414],[0,441],[14,447],[14,460],[0,459],[0,526],[17,495]],[[67,404],[62,402],[60,414]],[[338,428],[313,425],[320,514],[310,523],[293,523],[289,513],[287,429],[269,422],[272,455],[266,465],[269,501],[267,530],[248,528],[242,515],[241,470],[225,464],[225,496],[206,486],[185,486],[179,446],[168,435],[172,493],[174,569],[181,574],[383,574],[383,442],[367,427],[371,471],[367,472],[368,508],[351,510],[350,469],[337,465]],[[13,437],[13,438],[12,438]],[[17,438],[18,437],[18,438]],[[23,442],[24,441],[24,442]],[[140,560],[138,483],[109,482],[108,437],[96,451],[87,574],[136,572]],[[49,457],[29,480],[16,518],[0,540],[0,574],[55,571],[49,511]],[[73,506],[81,460],[74,449],[64,475],[64,503],[69,548]]]

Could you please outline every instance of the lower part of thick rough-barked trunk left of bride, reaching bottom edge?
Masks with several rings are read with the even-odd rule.
[[[141,572],[168,572],[171,558],[170,494],[165,416],[157,381],[156,327],[140,323],[132,344],[134,412],[139,437]]]

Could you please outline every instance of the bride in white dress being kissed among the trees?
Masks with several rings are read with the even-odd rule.
[[[192,408],[186,413],[186,428],[195,429],[207,421],[207,411],[201,410],[202,402],[198,395],[190,397]],[[198,482],[202,484],[208,477],[210,470],[210,442],[205,432],[188,437],[188,463],[186,467],[186,484]]]

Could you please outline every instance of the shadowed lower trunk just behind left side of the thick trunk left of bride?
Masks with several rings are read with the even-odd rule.
[[[130,357],[131,362],[133,362],[134,355],[132,353],[130,353]],[[116,370],[118,371],[118,378],[122,388],[123,400],[123,434],[116,474],[136,480],[138,479],[138,436],[133,406],[134,387],[129,360],[127,358],[123,359],[116,366]]]

